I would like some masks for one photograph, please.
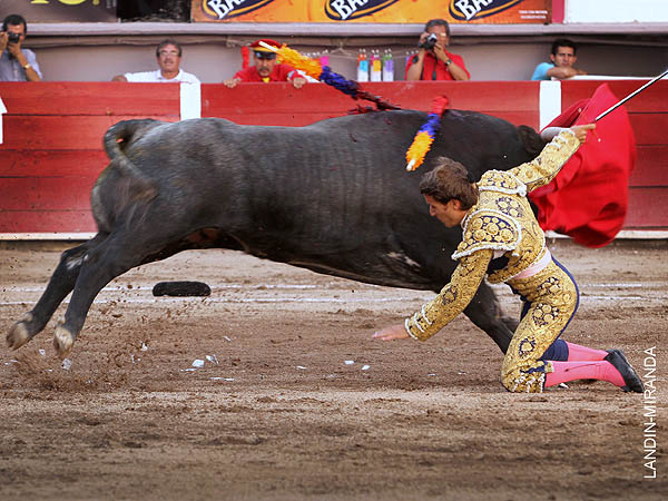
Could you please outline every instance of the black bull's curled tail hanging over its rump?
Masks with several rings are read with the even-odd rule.
[[[111,164],[128,177],[135,188],[138,198],[151,199],[158,190],[155,183],[147,177],[127,157],[126,149],[154,127],[161,125],[158,120],[124,120],[109,127],[105,134],[105,149]]]

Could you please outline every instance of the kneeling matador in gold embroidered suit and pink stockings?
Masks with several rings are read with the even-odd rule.
[[[420,191],[430,215],[448,227],[461,225],[462,242],[452,255],[459,264],[436,297],[374,337],[426,341],[466,307],[487,275],[492,284],[507,283],[523,302],[501,369],[508,391],[539,393],[583,379],[642,392],[640,377],[620,350],[593,350],[560,338],[578,307],[579,291],[552,257],[527,199],[529,191],[557,176],[593,127],[554,130],[536,159],[508,171],[489,170],[479,183],[469,181],[461,164],[440,158],[424,175]]]

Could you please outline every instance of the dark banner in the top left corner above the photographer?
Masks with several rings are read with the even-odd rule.
[[[0,20],[16,13],[29,27],[32,22],[116,22],[116,6],[117,0],[1,0]]]

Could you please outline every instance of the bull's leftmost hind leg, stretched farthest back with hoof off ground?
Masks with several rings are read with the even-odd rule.
[[[35,307],[9,328],[6,340],[10,348],[21,347],[45,328],[56,308],[75,288],[84,255],[106,237],[106,234],[98,233],[90,240],[61,254],[60,263]]]

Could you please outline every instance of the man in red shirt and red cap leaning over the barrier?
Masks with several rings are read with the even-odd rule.
[[[297,70],[289,65],[276,62],[276,52],[261,46],[259,42],[281,48],[281,43],[268,38],[254,41],[250,43],[250,50],[253,50],[255,65],[237,71],[233,78],[224,80],[223,84],[230,89],[240,81],[292,81],[295,89],[306,84],[306,79]]]

